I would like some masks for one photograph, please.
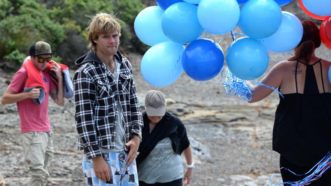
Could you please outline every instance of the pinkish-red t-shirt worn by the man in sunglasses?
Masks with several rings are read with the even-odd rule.
[[[51,80],[49,73],[40,71],[40,75],[48,90],[41,105],[36,104],[32,99],[25,99],[17,102],[17,109],[21,120],[21,133],[26,132],[48,132],[50,122],[48,119],[48,95],[49,91],[57,89],[56,84]],[[9,84],[9,89],[15,93],[21,93],[27,79],[26,69],[19,69]]]

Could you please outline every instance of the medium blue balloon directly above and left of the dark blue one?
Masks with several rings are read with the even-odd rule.
[[[189,43],[203,33],[197,16],[197,7],[189,3],[176,3],[164,11],[163,33],[175,43]]]

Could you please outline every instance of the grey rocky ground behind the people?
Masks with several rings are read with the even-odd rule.
[[[317,51],[318,56],[331,60],[329,54],[325,47]],[[288,56],[270,55],[269,68]],[[262,186],[268,185],[273,172],[273,183],[281,181],[279,154],[271,150],[277,94],[248,104],[225,93],[219,81],[221,74],[205,82],[194,81],[183,74],[173,85],[156,88],[141,76],[141,57],[134,53],[128,55],[134,68],[142,108],[148,90],[161,90],[168,99],[167,109],[180,116],[187,128],[197,165],[190,185]],[[0,69],[0,95],[12,76]],[[56,151],[49,170],[51,179],[48,185],[84,185],[82,153],[76,151],[73,99],[66,100],[64,107],[50,100],[49,117]],[[7,185],[26,185],[29,181],[19,132],[16,105],[0,105],[0,172]]]

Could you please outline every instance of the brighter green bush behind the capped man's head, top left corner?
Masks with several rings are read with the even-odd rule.
[[[7,1],[0,5],[0,57],[14,50],[27,53],[38,40],[52,43],[54,49],[65,38],[60,23],[48,17],[45,6],[33,0]]]

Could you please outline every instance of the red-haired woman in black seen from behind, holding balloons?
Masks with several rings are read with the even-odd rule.
[[[304,35],[295,55],[275,65],[261,80],[284,96],[275,113],[272,149],[281,154],[280,167],[298,175],[307,173],[331,150],[331,62],[315,55],[321,44],[317,25],[302,21],[302,26]],[[252,92],[251,103],[266,98],[272,89],[256,85]],[[283,182],[308,176],[286,169],[281,169]],[[331,185],[331,170],[309,185]]]

